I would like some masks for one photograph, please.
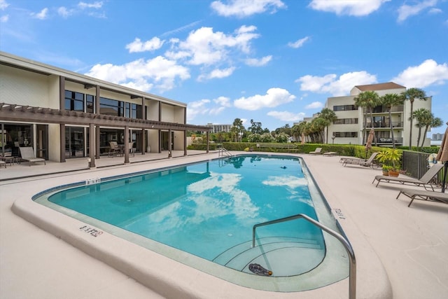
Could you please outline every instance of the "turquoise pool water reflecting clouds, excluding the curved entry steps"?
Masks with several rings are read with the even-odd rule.
[[[241,156],[64,190],[50,202],[213,260],[252,237],[252,226],[316,213],[297,158]],[[290,221],[258,238],[323,244],[320,230]]]

